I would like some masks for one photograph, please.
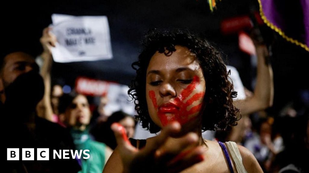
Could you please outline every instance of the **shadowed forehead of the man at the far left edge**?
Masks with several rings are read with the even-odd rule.
[[[6,55],[4,58],[5,66],[11,66],[17,62],[35,63],[31,55],[23,52],[14,52]]]

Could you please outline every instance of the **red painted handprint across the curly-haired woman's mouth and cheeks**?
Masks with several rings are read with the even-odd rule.
[[[158,117],[163,126],[166,126],[168,123],[172,121],[178,121],[180,124],[185,124],[189,120],[192,120],[196,116],[190,116],[195,113],[198,113],[201,110],[202,103],[199,103],[196,106],[193,106],[188,110],[188,107],[192,105],[193,102],[200,100],[204,97],[205,92],[199,92],[194,94],[191,98],[188,99],[190,95],[192,95],[193,91],[200,83],[200,80],[197,76],[193,77],[192,83],[189,84],[183,91],[181,91],[180,95],[174,99],[174,101],[169,103],[164,103],[162,105],[157,104],[157,100],[155,98],[155,91],[149,91],[149,97],[154,105],[155,109],[158,110]],[[188,100],[187,100],[188,99]],[[184,102],[187,100],[186,102]]]

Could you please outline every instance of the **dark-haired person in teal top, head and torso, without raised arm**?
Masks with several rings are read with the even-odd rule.
[[[104,143],[91,139],[89,124],[91,111],[87,98],[81,94],[64,94],[59,99],[59,117],[70,129],[77,150],[89,150],[89,159],[80,159],[80,173],[102,172],[112,150]]]

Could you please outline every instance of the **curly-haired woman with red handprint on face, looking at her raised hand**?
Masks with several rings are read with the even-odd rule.
[[[142,127],[161,132],[129,141],[113,124],[118,146],[103,172],[262,172],[246,148],[202,138],[202,131],[229,130],[240,118],[220,53],[181,30],[151,30],[144,46],[132,64],[137,76],[129,95]]]

